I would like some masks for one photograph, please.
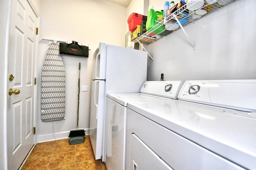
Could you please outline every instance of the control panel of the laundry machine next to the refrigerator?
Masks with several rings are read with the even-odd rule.
[[[146,81],[142,85],[140,93],[178,99],[182,85],[182,81]]]

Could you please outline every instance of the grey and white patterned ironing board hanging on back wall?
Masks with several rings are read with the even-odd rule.
[[[65,117],[65,69],[59,45],[51,43],[44,60],[41,84],[41,120],[59,121]]]

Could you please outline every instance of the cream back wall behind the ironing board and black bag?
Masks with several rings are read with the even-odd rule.
[[[38,51],[38,142],[52,140],[52,126],[56,138],[67,137],[70,129],[76,128],[78,63],[81,63],[79,127],[89,128],[92,54],[100,42],[123,46],[127,26],[126,8],[105,0],[42,0],[40,6],[40,40],[53,39],[81,45],[90,45],[89,57],[62,55],[66,71],[65,120],[41,122],[40,84],[41,71],[48,49],[48,42],[39,42]],[[86,133],[88,133],[88,129]]]

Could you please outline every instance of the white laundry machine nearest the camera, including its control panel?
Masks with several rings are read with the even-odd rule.
[[[256,80],[186,81],[178,99],[128,103],[126,170],[256,168]]]

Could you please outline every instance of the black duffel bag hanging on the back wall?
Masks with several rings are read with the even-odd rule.
[[[60,54],[76,55],[82,57],[88,57],[88,47],[84,45],[78,45],[78,42],[72,41],[72,43],[60,43]]]

